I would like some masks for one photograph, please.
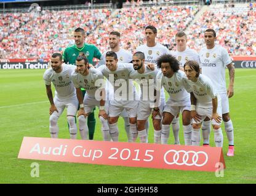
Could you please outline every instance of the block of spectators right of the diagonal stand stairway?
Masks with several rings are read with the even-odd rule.
[[[256,6],[234,4],[232,7],[212,5],[196,22],[186,29],[188,44],[195,50],[204,47],[203,32],[207,28],[217,31],[217,42],[230,55],[256,55]]]

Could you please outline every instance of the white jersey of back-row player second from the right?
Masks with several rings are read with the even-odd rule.
[[[177,58],[177,60],[180,62],[180,66],[182,67],[186,61],[196,61],[200,65],[198,53],[190,48],[186,48],[184,51],[170,51],[170,54]]]

